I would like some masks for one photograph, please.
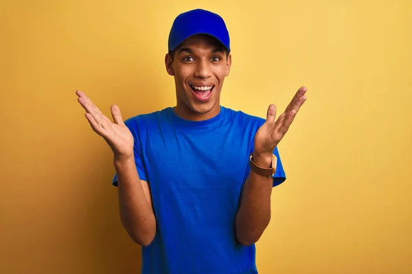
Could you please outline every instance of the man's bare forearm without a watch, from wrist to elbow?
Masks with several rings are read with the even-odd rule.
[[[155,237],[156,220],[146,199],[135,160],[115,160],[120,219],[130,237],[139,245],[149,245]]]

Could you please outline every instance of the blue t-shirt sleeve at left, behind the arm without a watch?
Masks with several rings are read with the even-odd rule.
[[[139,174],[139,178],[141,180],[148,182],[146,168],[144,166],[143,153],[141,149],[140,128],[137,123],[137,119],[128,119],[124,123],[126,124],[128,129],[130,129],[130,132],[132,133],[135,140],[135,143],[133,145],[133,153],[135,155],[137,174]],[[117,186],[117,173],[115,173],[115,176],[113,177],[112,184],[113,186]]]

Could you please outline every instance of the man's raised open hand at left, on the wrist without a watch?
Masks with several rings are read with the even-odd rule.
[[[83,92],[77,90],[76,95],[78,95],[78,102],[86,110],[85,116],[91,128],[106,140],[115,155],[115,160],[127,160],[133,157],[133,135],[124,125],[119,107],[111,106],[111,114],[115,122],[112,123]]]

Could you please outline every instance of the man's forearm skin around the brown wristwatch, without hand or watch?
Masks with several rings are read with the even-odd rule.
[[[258,166],[271,166],[271,158],[253,155]],[[269,176],[249,173],[244,183],[240,208],[236,216],[236,237],[242,245],[251,245],[262,236],[271,219],[271,193],[273,179]]]

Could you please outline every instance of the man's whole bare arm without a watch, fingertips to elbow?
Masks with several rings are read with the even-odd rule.
[[[80,90],[78,102],[86,110],[86,118],[94,132],[106,140],[115,156],[120,219],[130,238],[140,245],[149,245],[155,237],[156,220],[148,183],[137,173],[133,153],[134,138],[124,124],[117,105],[111,106],[113,121]]]

